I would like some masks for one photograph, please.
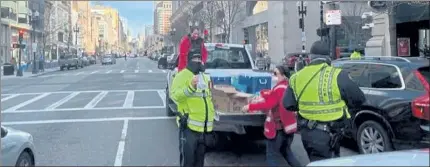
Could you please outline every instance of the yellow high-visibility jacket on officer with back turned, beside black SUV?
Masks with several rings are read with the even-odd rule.
[[[350,118],[337,84],[337,76],[340,71],[340,69],[322,63],[306,66],[291,76],[290,87],[296,96],[300,116],[307,120],[321,122],[338,120],[344,114],[346,114],[346,118]],[[314,74],[316,75],[311,80]],[[308,82],[309,84],[305,88]],[[297,99],[302,92],[300,99]]]

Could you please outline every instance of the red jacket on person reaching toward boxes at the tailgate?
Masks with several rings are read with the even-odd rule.
[[[281,81],[273,87],[272,90],[266,91],[261,93],[261,96],[264,98],[263,102],[260,103],[251,103],[249,104],[249,111],[253,112],[256,110],[265,111],[267,117],[270,117],[269,112],[272,112],[272,119],[274,119],[275,126],[267,127],[267,124],[265,124],[265,131],[267,130],[272,131],[276,133],[277,130],[284,129],[284,131],[288,131],[287,133],[291,133],[290,128],[296,128],[296,124],[293,126],[290,126],[292,122],[296,123],[296,117],[294,116],[293,112],[286,111],[285,108],[283,108],[281,102],[284,97],[285,90],[288,87],[288,81]],[[282,112],[282,113],[280,113]],[[267,122],[267,119],[266,119]],[[275,129],[274,129],[275,128]],[[265,132],[265,133],[266,133]],[[295,132],[295,130],[293,130]]]

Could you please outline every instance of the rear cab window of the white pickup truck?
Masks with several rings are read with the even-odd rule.
[[[245,48],[208,47],[206,68],[209,69],[245,69],[252,68]]]

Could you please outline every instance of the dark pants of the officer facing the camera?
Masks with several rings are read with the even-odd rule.
[[[179,131],[179,162],[181,167],[203,167],[206,145],[204,133],[189,128]]]

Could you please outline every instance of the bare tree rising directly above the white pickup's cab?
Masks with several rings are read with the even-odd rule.
[[[221,28],[224,35],[224,43],[230,42],[231,29],[245,18],[241,15],[244,11],[245,2],[241,0],[212,2],[216,9],[217,26]]]

